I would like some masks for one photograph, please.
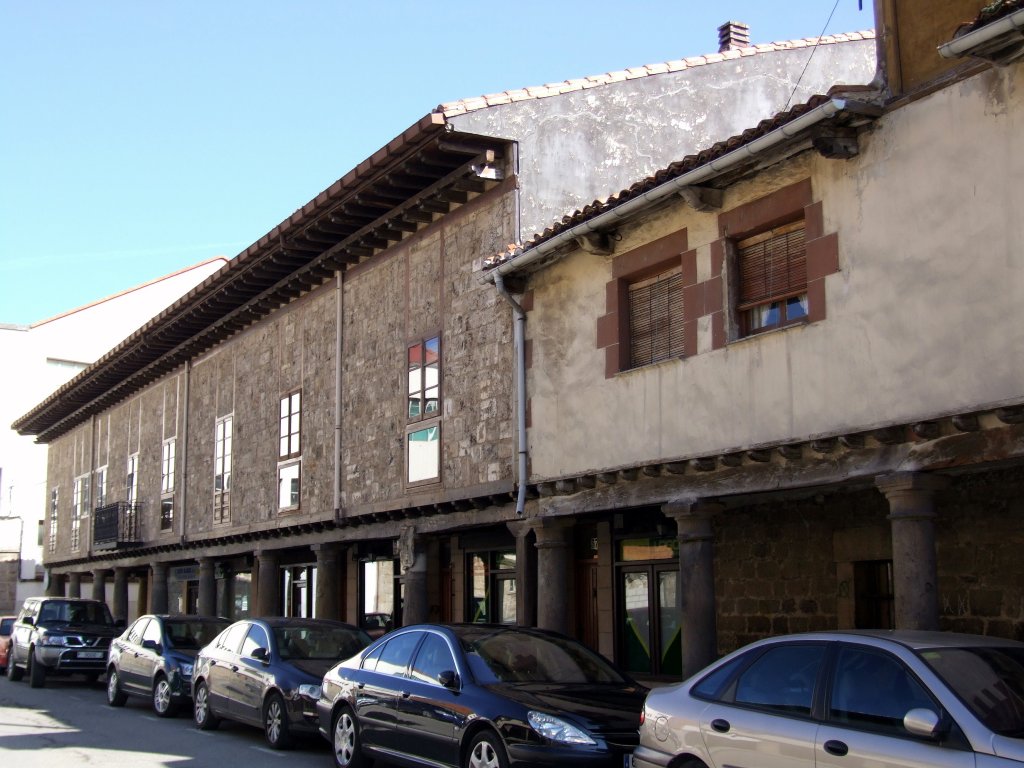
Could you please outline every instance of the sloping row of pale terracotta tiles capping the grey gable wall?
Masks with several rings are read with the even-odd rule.
[[[1012,3],[1024,3],[1024,0],[1007,0]],[[644,65],[643,67],[633,67],[628,70],[617,70],[601,75],[591,75],[585,78],[574,78],[561,83],[548,83],[542,86],[529,86],[526,88],[516,88],[513,90],[492,93],[484,96],[471,96],[469,98],[458,99],[456,101],[445,101],[439,104],[434,112],[440,113],[446,118],[465,115],[476,110],[484,110],[488,106],[507,104],[513,101],[523,101],[529,98],[546,98],[557,96],[561,93],[569,93],[586,88],[595,88],[609,83],[622,83],[627,80],[651,77],[652,75],[664,75],[671,72],[681,72],[693,67],[705,67],[710,63],[729,61],[745,56],[756,56],[762,53],[772,53],[775,51],[793,50],[796,48],[807,48],[812,45],[834,45],[836,43],[853,42],[856,40],[873,40],[874,31],[865,30],[863,32],[850,32],[841,35],[827,35],[821,38],[805,38],[803,40],[782,40],[775,43],[761,43],[745,48],[722,51],[720,53],[710,53],[702,56],[689,56],[682,59],[672,59],[671,61],[660,61],[656,63]]]

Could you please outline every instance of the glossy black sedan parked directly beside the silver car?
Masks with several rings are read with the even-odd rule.
[[[395,630],[324,678],[335,764],[623,768],[646,689],[567,637],[507,626]]]

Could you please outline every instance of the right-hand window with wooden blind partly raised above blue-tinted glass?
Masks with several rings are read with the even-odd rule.
[[[804,220],[735,242],[740,334],[782,328],[807,318]]]

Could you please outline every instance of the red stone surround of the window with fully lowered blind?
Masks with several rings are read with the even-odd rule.
[[[680,272],[683,266],[683,253],[686,251],[686,229],[659,238],[640,248],[616,256],[611,262],[611,280],[605,286],[605,312],[597,319],[597,347],[604,350],[604,375],[611,378],[622,371],[634,368],[631,349],[630,331],[630,289],[658,275],[666,275],[673,284],[678,279],[672,272]],[[678,307],[678,289],[670,291],[675,313],[685,309],[686,298],[682,297],[683,307]],[[658,310],[662,315],[665,312]],[[672,337],[669,356],[685,354],[685,314],[680,317],[682,336],[678,331],[669,332]],[[680,343],[683,347],[680,348]],[[678,352],[678,354],[676,354]],[[652,357],[653,359],[653,357]],[[665,359],[658,356],[657,359]]]

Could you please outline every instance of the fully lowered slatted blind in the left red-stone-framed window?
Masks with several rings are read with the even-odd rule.
[[[683,355],[683,275],[663,272],[630,286],[630,367]]]

